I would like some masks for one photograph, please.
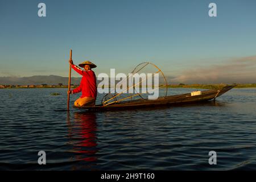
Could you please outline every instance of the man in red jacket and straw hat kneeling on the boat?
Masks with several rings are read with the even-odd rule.
[[[84,61],[79,64],[79,67],[84,68],[84,70],[82,70],[81,68],[73,64],[72,59],[69,60],[69,64],[71,64],[72,68],[77,73],[82,75],[82,80],[79,87],[68,91],[68,94],[82,92],[82,96],[75,101],[74,105],[76,107],[94,106],[97,97],[97,84],[96,76],[95,73],[92,71],[92,68],[96,68],[97,66],[90,61]]]

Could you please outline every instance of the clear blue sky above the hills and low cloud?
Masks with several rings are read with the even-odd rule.
[[[208,16],[210,2],[217,17]],[[68,76],[71,48],[75,64],[97,64],[96,75],[129,73],[142,61],[174,77],[233,64],[256,55],[255,7],[254,0],[0,0],[0,76]]]

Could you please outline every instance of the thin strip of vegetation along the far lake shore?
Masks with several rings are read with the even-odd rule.
[[[227,84],[173,84],[168,85],[168,88],[219,89],[225,85]],[[79,85],[71,85],[71,88],[76,88],[77,86]],[[68,88],[68,85],[0,85],[0,89],[19,88]],[[256,88],[256,84],[237,84],[234,88]]]

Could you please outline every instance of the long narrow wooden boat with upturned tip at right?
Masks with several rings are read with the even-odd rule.
[[[208,100],[215,100],[217,97],[228,92],[236,85],[227,85],[221,89],[204,90],[193,96],[192,93],[178,94],[174,96],[159,97],[157,100],[146,100],[139,99],[133,101],[115,102],[110,105],[96,105],[96,106],[84,106],[75,107],[79,109],[86,109],[91,111],[104,111],[104,110],[117,110],[117,109],[137,109],[139,107],[156,107],[156,106],[167,106],[167,105],[180,105],[180,104],[192,104],[195,102],[202,102]]]

